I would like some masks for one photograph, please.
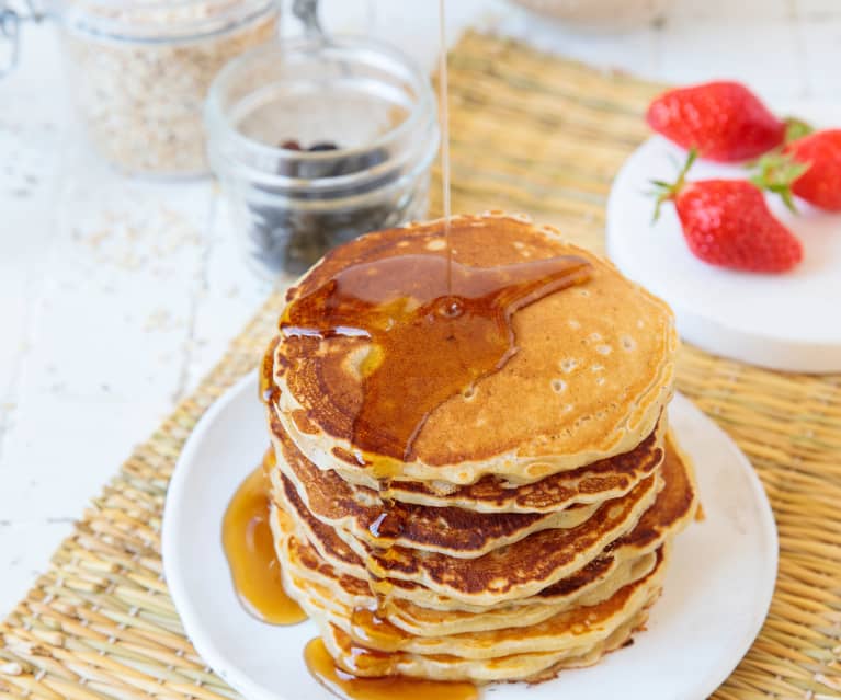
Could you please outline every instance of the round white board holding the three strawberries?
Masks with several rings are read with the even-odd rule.
[[[815,125],[841,125],[841,106],[800,105]],[[841,215],[797,203],[795,216],[769,196],[772,211],[803,241],[798,267],[782,275],[714,267],[690,253],[674,207],[651,222],[651,180],[673,182],[686,153],[655,136],[623,165],[607,205],[607,254],[628,277],[674,309],[680,334],[717,355],[788,371],[841,371]],[[698,160],[690,177],[743,179],[738,165]]]

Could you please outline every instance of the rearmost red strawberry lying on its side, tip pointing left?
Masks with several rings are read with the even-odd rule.
[[[750,90],[725,81],[670,90],[649,105],[646,121],[678,146],[721,162],[757,158],[780,146],[786,130]]]

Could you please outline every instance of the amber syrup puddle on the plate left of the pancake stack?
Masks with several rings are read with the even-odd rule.
[[[269,526],[269,492],[263,468],[242,482],[225,512],[221,541],[234,587],[243,607],[270,624],[295,624],[306,613],[286,595]]]

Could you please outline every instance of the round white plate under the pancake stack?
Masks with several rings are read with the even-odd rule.
[[[495,700],[702,700],[762,627],[776,577],[774,518],[762,485],[727,435],[683,397],[671,423],[696,461],[706,519],[680,536],[662,598],[632,646],[536,686],[491,686]],[[213,669],[249,700],[329,700],[304,664],[311,622],[258,622],[234,593],[221,518],[269,437],[257,378],[214,404],[184,447],[163,517],[163,566],[184,629]]]

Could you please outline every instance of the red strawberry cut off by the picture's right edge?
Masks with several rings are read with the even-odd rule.
[[[841,129],[816,131],[785,147],[798,163],[808,165],[792,183],[792,192],[828,211],[841,211]]]

